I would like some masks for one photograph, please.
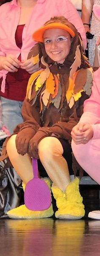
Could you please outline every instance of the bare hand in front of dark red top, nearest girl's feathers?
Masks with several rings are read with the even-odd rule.
[[[34,72],[39,70],[39,63],[33,65],[33,59],[27,59],[21,62],[20,68],[25,69],[29,74],[33,74]]]

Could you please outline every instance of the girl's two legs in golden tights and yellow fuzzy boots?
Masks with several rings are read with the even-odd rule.
[[[28,155],[21,156],[17,153],[15,145],[16,135],[7,143],[8,156],[24,183],[33,177],[31,160]],[[56,198],[58,211],[56,217],[61,219],[80,219],[84,215],[84,206],[79,193],[78,180],[70,183],[67,161],[63,158],[63,147],[57,138],[47,137],[40,141],[39,158],[53,181],[52,191]],[[73,200],[74,198],[74,200]],[[68,199],[68,200],[67,200]],[[53,215],[53,208],[44,211],[30,211],[25,205],[8,211],[11,218],[44,218]]]

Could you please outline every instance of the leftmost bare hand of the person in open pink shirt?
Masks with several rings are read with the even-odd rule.
[[[13,54],[8,54],[3,58],[2,68],[9,72],[17,72],[20,67],[20,61]]]

